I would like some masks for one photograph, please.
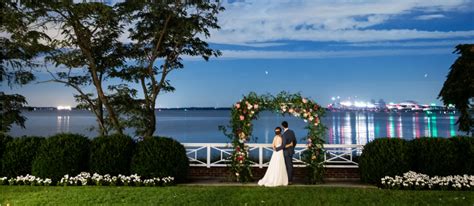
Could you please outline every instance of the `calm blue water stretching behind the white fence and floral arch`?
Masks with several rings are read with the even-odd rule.
[[[26,129],[14,126],[13,136],[49,136],[60,132],[80,133],[97,136],[95,117],[88,111],[30,111]],[[183,143],[227,143],[229,140],[218,130],[219,125],[227,125],[228,110],[166,110],[157,111],[156,135],[169,136]],[[322,118],[328,128],[325,137],[328,144],[366,144],[380,137],[451,137],[462,134],[457,131],[455,114],[426,114],[424,112],[327,112]],[[269,143],[273,129],[286,120],[290,128],[302,139],[306,123],[292,116],[262,112],[254,120],[252,142]],[[129,134],[133,131],[127,130]],[[301,141],[300,141],[301,142]]]

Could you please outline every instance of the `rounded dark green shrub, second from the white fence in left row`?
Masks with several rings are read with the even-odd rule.
[[[125,135],[97,137],[92,140],[90,172],[129,175],[134,142]]]

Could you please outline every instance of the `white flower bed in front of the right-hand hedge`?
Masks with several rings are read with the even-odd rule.
[[[382,187],[388,189],[474,190],[474,175],[430,177],[425,174],[409,171],[404,173],[403,177],[385,176],[381,181]]]

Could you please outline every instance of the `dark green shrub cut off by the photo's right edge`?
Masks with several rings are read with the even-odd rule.
[[[474,175],[474,138],[458,136],[451,138],[456,147],[455,174]]]

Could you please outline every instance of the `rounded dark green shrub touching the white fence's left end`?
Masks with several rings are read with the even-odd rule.
[[[146,178],[174,177],[186,179],[189,161],[186,149],[171,138],[152,137],[138,142],[132,158],[131,171]]]

